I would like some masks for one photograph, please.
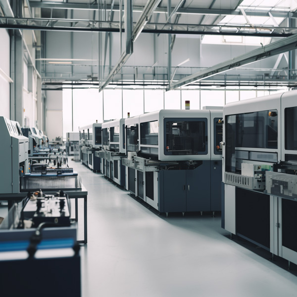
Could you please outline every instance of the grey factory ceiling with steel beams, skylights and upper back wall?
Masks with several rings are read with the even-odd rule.
[[[99,90],[116,84],[159,84],[172,90],[200,87],[202,81],[204,85],[220,82],[220,86],[250,82],[257,86],[263,81],[295,86],[295,46],[274,50],[280,48],[277,42],[297,34],[294,0],[134,0],[133,5],[129,0],[25,0],[22,7],[11,1],[13,15],[7,12],[6,2],[0,0],[0,27],[42,32],[35,46],[40,50],[37,57],[45,88],[66,81],[88,82]],[[79,45],[78,36],[87,32],[92,44]],[[61,48],[55,54],[54,36],[59,46],[60,38],[66,43],[67,34],[70,46],[76,48]],[[144,46],[146,40],[151,56],[144,58],[138,44]],[[91,53],[79,50],[82,46],[92,48]],[[207,56],[211,48],[220,50],[221,59]],[[261,58],[257,49],[262,49]],[[247,52],[253,61],[268,57],[269,63],[251,64],[245,77],[247,62],[234,64],[232,59]],[[218,70],[222,62],[224,79],[222,69]]]

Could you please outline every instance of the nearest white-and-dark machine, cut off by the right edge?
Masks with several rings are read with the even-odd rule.
[[[296,97],[225,105],[222,227],[297,264]]]

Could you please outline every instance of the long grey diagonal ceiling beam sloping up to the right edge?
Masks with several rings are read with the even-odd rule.
[[[190,76],[187,76],[171,84],[170,86],[167,86],[166,90],[167,91],[174,90],[176,88],[179,88],[194,82],[198,82],[200,80],[211,77],[213,75],[225,72],[227,70],[237,68],[239,66],[243,66],[243,65],[246,65],[270,56],[274,56],[283,52],[287,52],[289,50],[296,49],[296,48],[297,48],[297,34],[287,37],[285,39],[282,39],[280,41],[271,43],[265,47],[249,51],[245,54],[242,54],[228,61],[219,63],[215,66],[209,67],[200,72],[194,73]]]

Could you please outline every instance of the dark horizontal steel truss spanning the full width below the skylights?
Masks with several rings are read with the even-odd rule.
[[[49,19],[49,18],[12,18],[0,17],[0,28],[24,29],[41,31],[78,31],[78,32],[120,32],[119,22],[94,21],[81,19]],[[146,23],[138,26],[138,32],[160,34],[191,34],[191,35],[237,35],[260,37],[288,37],[297,33],[297,28],[273,26],[234,26],[234,25],[196,25],[196,24],[164,24]],[[136,26],[136,25],[135,25]],[[136,27],[135,27],[136,28]],[[142,29],[143,28],[143,29]],[[142,29],[141,31],[139,31]],[[240,29],[240,31],[239,31]],[[124,32],[124,30],[122,30]],[[133,35],[135,38],[137,35]]]

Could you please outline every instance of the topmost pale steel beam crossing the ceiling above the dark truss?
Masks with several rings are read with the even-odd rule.
[[[84,10],[96,10],[98,9],[97,4],[83,4],[83,3],[52,3],[52,2],[36,2],[30,1],[31,7],[38,8],[53,8],[53,9],[84,9]],[[106,5],[106,10],[110,10],[111,5]],[[144,9],[143,6],[133,6],[133,12],[142,12]],[[114,11],[119,11],[119,5],[113,6]],[[268,11],[257,11],[253,9],[246,9],[247,15],[252,16],[269,16]],[[154,10],[155,13],[166,13],[167,7],[157,7]],[[240,9],[212,9],[212,8],[179,8],[176,13],[183,14],[216,14],[216,15],[242,15]],[[291,14],[291,17],[297,17],[296,13],[282,11],[282,10],[270,10],[270,13],[274,17],[288,17],[288,14]]]

